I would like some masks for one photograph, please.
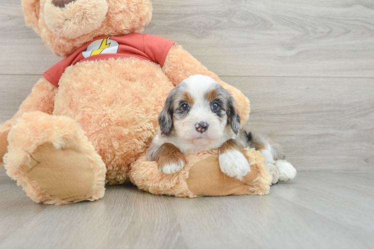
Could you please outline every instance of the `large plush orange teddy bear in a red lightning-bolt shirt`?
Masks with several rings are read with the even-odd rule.
[[[149,0],[22,0],[26,23],[65,59],[47,70],[19,110],[0,125],[0,165],[36,202],[103,196],[104,185],[131,180],[157,194],[265,194],[263,157],[244,149],[251,171],[224,175],[217,150],[185,155],[176,174],[159,173],[145,150],[167,93],[193,74],[231,92],[243,124],[249,101],[180,45],[141,34]]]

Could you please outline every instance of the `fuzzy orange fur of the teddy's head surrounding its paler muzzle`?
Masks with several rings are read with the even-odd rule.
[[[26,23],[43,38],[45,45],[59,56],[72,54],[95,37],[142,32],[152,16],[150,0],[106,0],[108,10],[98,28],[75,38],[67,38],[53,33],[45,23],[44,5],[50,2],[51,0],[22,0],[22,9]],[[79,0],[75,4],[80,7],[80,12],[88,11],[79,4]]]

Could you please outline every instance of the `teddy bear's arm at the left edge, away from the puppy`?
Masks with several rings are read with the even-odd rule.
[[[32,87],[31,93],[23,100],[14,116],[0,124],[0,131],[11,126],[11,123],[22,116],[24,112],[42,111],[51,114],[54,107],[54,94],[57,88],[49,83],[45,78],[40,78]]]

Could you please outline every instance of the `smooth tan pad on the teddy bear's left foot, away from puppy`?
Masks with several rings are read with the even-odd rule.
[[[89,161],[77,146],[56,149],[46,142],[32,153],[29,164],[22,167],[25,175],[51,198],[81,200],[94,185]]]

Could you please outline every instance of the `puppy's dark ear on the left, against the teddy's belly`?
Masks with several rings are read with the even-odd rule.
[[[173,127],[172,116],[174,114],[174,93],[175,88],[173,88],[168,94],[165,105],[162,111],[158,115],[158,125],[161,129],[161,134],[170,134]]]

